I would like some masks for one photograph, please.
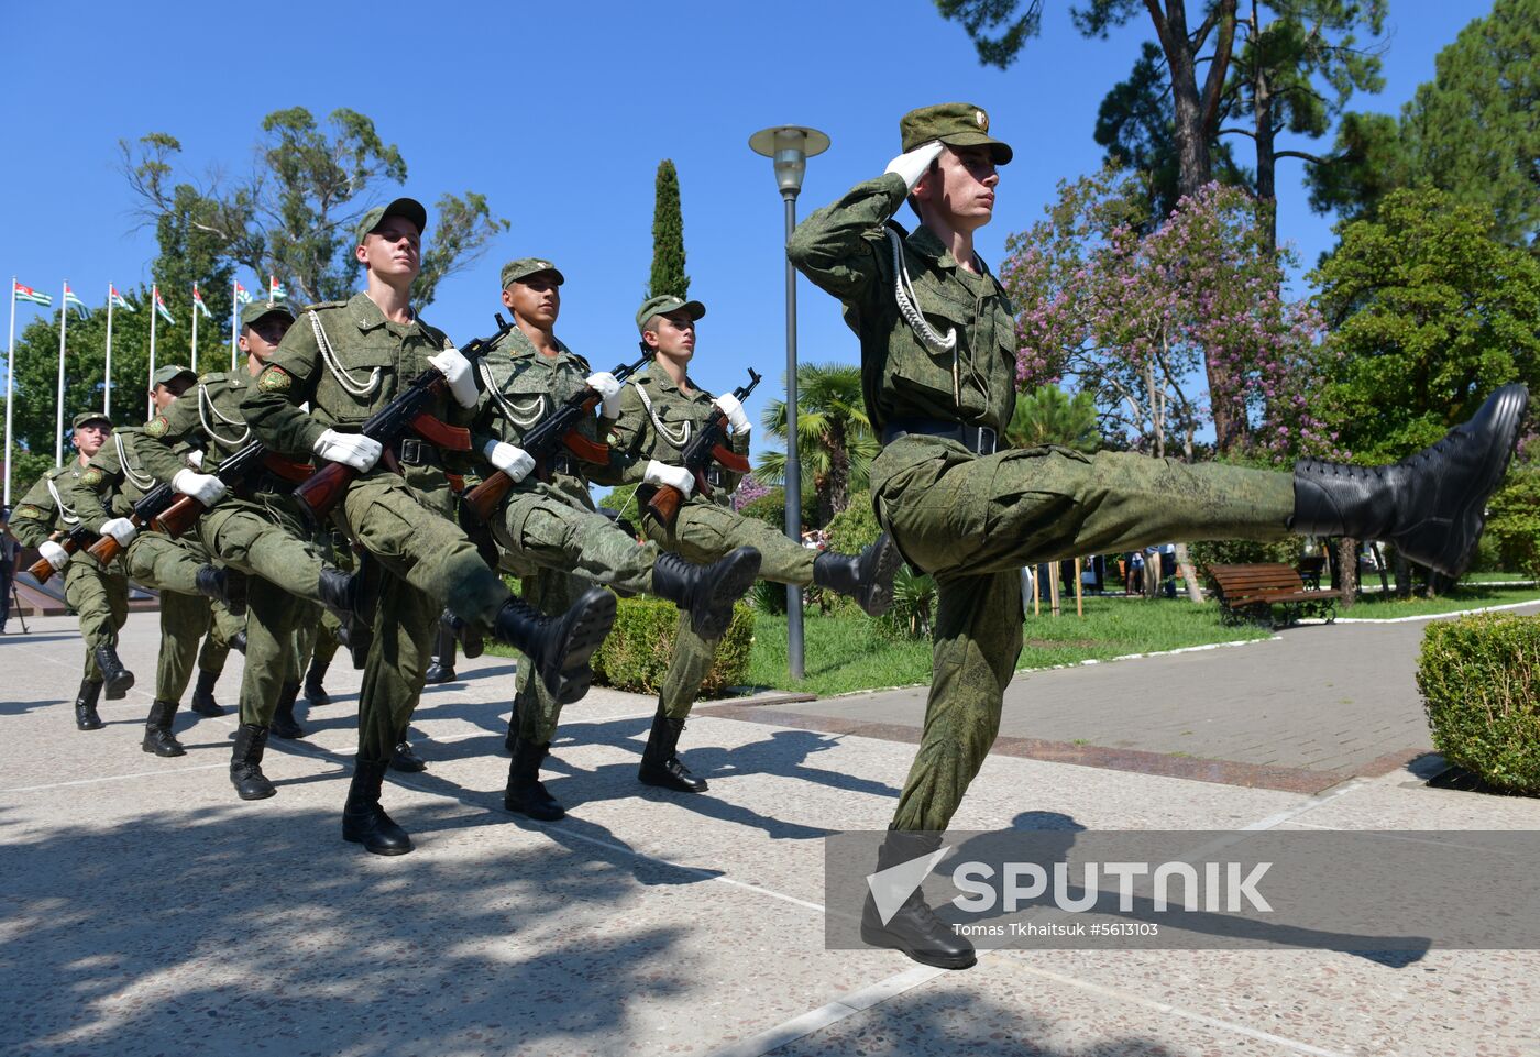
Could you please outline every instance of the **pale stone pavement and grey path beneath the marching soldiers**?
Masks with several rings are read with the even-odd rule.
[[[468,681],[425,695],[416,729],[431,769],[387,789],[417,851],[379,858],[339,838],[357,673],[333,673],[336,703],[302,713],[305,741],[270,750],[279,795],[242,803],[225,777],[234,716],[180,715],[179,760],[139,750],[152,615],[125,635],[140,687],[103,703],[108,726],[92,733],[69,712],[79,636],[63,618],[32,629],[0,638],[8,1054],[1540,1052],[1529,951],[1391,963],[1001,951],[967,972],[825,951],[819,838],[886,824],[912,755],[895,737],[912,718],[904,695],[733,706],[753,721],[716,706],[684,738],[711,792],[685,797],[634,780],[651,703],[594,690],[568,710],[548,766],[571,814],[534,824],[500,809],[511,664],[485,656],[464,664]],[[1040,740],[1040,755],[1218,763],[1173,777],[1112,757],[1001,752],[956,827],[1540,829],[1534,800],[1431,789],[1406,769],[1343,778],[1372,770],[1360,761],[1383,746],[1415,747],[1408,713],[1420,716],[1404,700],[1409,669],[1389,659],[1404,644],[1371,629],[1337,650],[1327,635],[1349,630],[1018,680],[1009,733]],[[1366,673],[1371,647],[1388,659]],[[1291,683],[1301,656],[1309,678]],[[237,678],[233,661],[226,704]],[[1181,701],[1184,718],[1163,718],[1158,700]],[[1312,732],[1326,744],[1358,718],[1378,724],[1374,737],[1309,755]],[[815,720],[878,737],[808,729]],[[1246,723],[1267,735],[1241,744]],[[1283,743],[1278,755],[1264,741]],[[1314,772],[1332,787],[1226,784],[1226,763]]]

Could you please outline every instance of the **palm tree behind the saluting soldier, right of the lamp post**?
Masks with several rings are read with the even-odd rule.
[[[796,368],[796,448],[802,488],[818,495],[818,516],[829,521],[847,505],[850,493],[867,487],[872,461],[881,445],[861,396],[861,368],[853,364],[799,364]],[[770,436],[785,441],[785,401],[770,401],[762,418]],[[762,451],[755,479],[785,484],[785,453]]]

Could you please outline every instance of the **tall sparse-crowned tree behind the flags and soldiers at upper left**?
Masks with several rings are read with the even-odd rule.
[[[182,143],[166,133],[120,142],[123,174],[140,200],[142,219],[157,225],[157,236],[168,220],[176,234],[169,245],[196,248],[194,265],[206,267],[211,256],[259,276],[271,273],[303,300],[334,300],[357,282],[354,226],[382,197],[382,183],[405,182],[407,162],[357,111],[336,109],[328,123],[317,125],[303,106],[268,114],[257,168],[239,180],[225,180],[217,169],[203,185],[176,180],[172,162]],[[482,194],[440,196],[414,287],[419,307],[431,304],[437,284],[470,267],[507,228]],[[166,248],[162,237],[162,256]]]

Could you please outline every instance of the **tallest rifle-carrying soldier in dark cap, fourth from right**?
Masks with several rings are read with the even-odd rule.
[[[433,418],[467,425],[477,405],[471,364],[411,310],[425,225],[427,210],[413,199],[370,210],[354,251],[365,268],[365,293],[306,310],[242,404],[268,447],[314,453],[359,471],[337,508],[350,536],[387,575],[359,693],[359,752],[342,835],[380,855],[411,851],[407,830],[380,807],[380,784],[422,692],[442,607],[473,632],[528,655],[534,667],[528,675],[539,675],[562,701],[587,692],[588,658],[614,622],[614,596],[602,589],[584,593],[556,619],[513,598],[451,521],[447,471],[467,467],[468,453],[448,448],[456,442],[448,430],[439,427],[437,441],[400,436],[385,465],[376,465],[382,445],[357,433],[430,367],[448,390],[430,407]],[[306,402],[310,413],[300,410]],[[400,471],[391,471],[397,465]],[[524,673],[528,666],[519,667]]]

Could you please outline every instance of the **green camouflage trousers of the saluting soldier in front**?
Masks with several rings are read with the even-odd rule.
[[[1021,653],[1019,569],[1194,539],[1280,539],[1289,473],[1103,451],[975,456],[902,438],[872,467],[878,521],[936,578],[933,672],[919,750],[892,827],[942,830],[984,763]]]

